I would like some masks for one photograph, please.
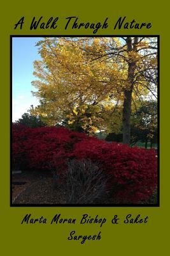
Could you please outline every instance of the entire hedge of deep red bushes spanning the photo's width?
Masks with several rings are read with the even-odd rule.
[[[130,148],[65,128],[13,124],[13,168],[66,170],[67,159],[90,159],[108,175],[108,186],[124,201],[147,199],[157,186],[155,150]]]

